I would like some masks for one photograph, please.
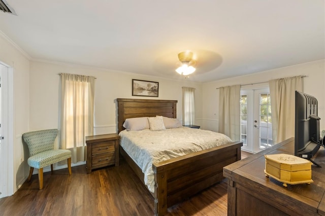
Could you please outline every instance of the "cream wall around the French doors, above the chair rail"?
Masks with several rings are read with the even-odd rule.
[[[313,95],[318,100],[318,116],[320,117],[320,129],[325,129],[325,60],[313,61],[261,73],[224,79],[203,84],[203,119],[202,129],[218,131],[218,99],[222,86],[245,85],[251,83],[268,82],[272,79],[306,75],[303,78],[304,92]]]

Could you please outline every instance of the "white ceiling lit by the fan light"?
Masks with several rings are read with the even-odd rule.
[[[324,0],[7,3],[17,16],[0,12],[0,31],[32,60],[180,80],[190,50],[188,80],[209,82],[325,58]]]

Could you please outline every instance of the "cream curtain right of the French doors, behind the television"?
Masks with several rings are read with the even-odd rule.
[[[269,81],[273,143],[295,136],[295,91],[302,91],[302,77]]]

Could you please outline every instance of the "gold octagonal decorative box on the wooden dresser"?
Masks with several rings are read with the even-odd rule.
[[[287,184],[310,184],[313,182],[310,161],[287,154],[265,155],[264,157],[266,176],[271,176],[282,182],[284,187],[287,187]]]

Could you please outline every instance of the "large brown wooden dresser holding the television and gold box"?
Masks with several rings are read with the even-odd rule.
[[[325,150],[320,148],[312,165],[310,185],[283,187],[266,177],[264,155],[294,154],[295,139],[223,167],[228,178],[228,215],[325,215]]]

